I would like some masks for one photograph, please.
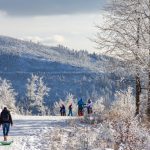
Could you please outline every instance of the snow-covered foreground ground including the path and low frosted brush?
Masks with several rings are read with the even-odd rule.
[[[112,150],[102,147],[102,140],[95,140],[101,127],[87,125],[80,119],[13,115],[9,140],[14,142],[9,146],[0,145],[0,150]],[[2,130],[0,140],[3,140]]]

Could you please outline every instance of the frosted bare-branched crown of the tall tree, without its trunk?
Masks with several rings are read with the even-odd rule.
[[[130,62],[131,71],[136,71],[137,66],[140,69],[147,67],[145,59],[148,51],[144,44],[148,37],[145,31],[148,22],[142,16],[144,9],[149,11],[145,7],[147,1],[111,0],[104,14],[104,26],[98,26],[98,48],[126,63]]]

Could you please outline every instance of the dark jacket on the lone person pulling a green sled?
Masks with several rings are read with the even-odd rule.
[[[7,109],[3,109],[0,114],[0,124],[3,124],[3,123],[13,124],[10,111],[8,111]]]

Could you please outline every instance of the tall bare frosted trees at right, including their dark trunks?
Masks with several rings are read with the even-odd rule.
[[[128,73],[135,76],[138,114],[141,74],[150,74],[150,1],[111,0],[104,14],[104,25],[98,26],[96,43],[103,52],[119,58],[119,65],[124,65]],[[114,63],[113,66],[117,67],[118,64]],[[147,76],[147,79],[145,82],[150,87],[150,76]],[[148,87],[145,88],[148,89],[150,97]],[[149,103],[150,98],[148,110]]]

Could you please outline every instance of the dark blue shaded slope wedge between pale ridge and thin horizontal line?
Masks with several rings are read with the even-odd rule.
[[[85,69],[46,59],[9,54],[0,55],[0,72],[83,72]]]

